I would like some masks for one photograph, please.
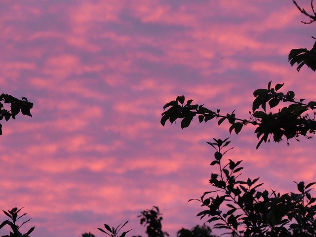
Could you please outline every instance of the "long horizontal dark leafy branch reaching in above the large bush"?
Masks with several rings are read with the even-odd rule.
[[[255,90],[253,92],[255,99],[252,103],[252,112],[249,112],[251,115],[249,119],[236,118],[235,111],[231,114],[222,115],[219,109],[215,112],[205,108],[204,105],[193,105],[193,100],[188,100],[185,104],[185,97],[182,95],[164,105],[163,109],[166,110],[168,108],[168,110],[162,113],[160,123],[164,126],[167,120],[173,123],[177,118],[180,118],[182,119],[181,128],[183,129],[188,127],[197,115],[200,123],[203,121],[207,122],[213,118],[219,118],[218,125],[227,120],[231,124],[229,128],[230,133],[235,131],[236,134],[241,131],[244,125],[252,124],[257,126],[255,129],[255,133],[259,139],[257,149],[263,141],[265,143],[270,141],[271,137],[273,137],[275,142],[281,141],[283,137],[286,140],[291,138],[297,139],[300,135],[308,139],[311,138],[307,134],[315,134],[315,116],[311,118],[308,114],[303,115],[303,113],[316,109],[316,102],[304,103],[304,99],[296,101],[293,91],[288,91],[285,94],[278,91],[283,85],[284,83],[276,84],[272,88],[270,81],[267,89],[261,88]],[[267,113],[267,104],[272,109],[279,105],[280,102],[291,102],[291,104],[279,109],[277,113]],[[260,107],[263,111],[259,110]]]

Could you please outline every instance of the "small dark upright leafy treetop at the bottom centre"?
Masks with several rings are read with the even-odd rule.
[[[169,236],[167,232],[162,231],[162,214],[160,213],[158,206],[154,206],[151,210],[142,211],[138,218],[140,218],[141,225],[147,226],[146,234],[148,237]]]

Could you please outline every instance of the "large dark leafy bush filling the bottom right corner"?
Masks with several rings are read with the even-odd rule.
[[[259,178],[240,180],[240,166],[229,159],[223,164],[222,149],[229,144],[227,139],[208,142],[215,150],[211,165],[218,165],[219,173],[212,173],[209,183],[214,190],[205,192],[198,200],[206,207],[197,214],[207,217],[215,229],[227,229],[233,236],[256,237],[316,237],[316,201],[311,197],[310,187],[297,183],[298,193],[280,195],[275,191],[258,191]],[[189,200],[189,201],[191,201]]]

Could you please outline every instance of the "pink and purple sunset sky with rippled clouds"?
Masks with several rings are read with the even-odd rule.
[[[288,63],[314,44],[302,20],[291,0],[1,0],[0,93],[34,108],[1,121],[0,209],[24,207],[32,237],[102,237],[127,220],[129,236],[145,236],[137,216],[158,206],[175,236],[203,224],[188,200],[211,189],[212,138],[230,137],[224,158],[243,159],[241,177],[263,188],[315,181],[315,139],[256,151],[250,125],[160,124],[178,95],[239,118],[269,81],[316,100],[315,73]]]

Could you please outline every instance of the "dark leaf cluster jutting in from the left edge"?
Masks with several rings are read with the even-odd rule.
[[[10,110],[4,109],[3,103],[10,104]],[[33,103],[29,102],[27,98],[22,97],[19,100],[12,95],[1,94],[0,95],[0,120],[3,118],[7,121],[10,118],[15,119],[15,116],[20,112],[23,115],[32,117],[31,109],[33,108]],[[2,135],[2,125],[0,124],[0,135]]]

